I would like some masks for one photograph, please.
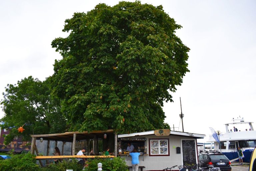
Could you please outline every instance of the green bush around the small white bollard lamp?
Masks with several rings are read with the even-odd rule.
[[[95,158],[89,161],[89,166],[85,168],[86,171],[98,170],[98,163],[102,163],[102,171],[128,171],[124,159],[115,157],[112,160],[109,158]]]

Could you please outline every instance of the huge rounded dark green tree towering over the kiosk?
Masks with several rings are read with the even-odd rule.
[[[74,130],[114,128],[122,133],[169,127],[163,101],[181,85],[187,69],[186,47],[162,6],[120,2],[98,4],[65,20],[66,38],[52,47],[53,93]]]

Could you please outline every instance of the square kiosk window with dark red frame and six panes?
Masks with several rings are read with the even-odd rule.
[[[169,139],[149,139],[150,156],[169,156]]]

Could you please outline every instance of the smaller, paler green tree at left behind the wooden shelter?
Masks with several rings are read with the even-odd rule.
[[[28,140],[30,134],[59,133],[66,129],[60,100],[50,95],[50,79],[42,82],[29,76],[17,84],[7,85],[1,101],[5,113],[1,121],[5,122],[2,127],[11,128],[11,132],[5,137],[5,144],[19,135]],[[25,131],[18,133],[17,128],[23,124]]]

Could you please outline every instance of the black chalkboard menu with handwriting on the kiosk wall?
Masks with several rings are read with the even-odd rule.
[[[182,140],[183,165],[196,164],[194,140]]]

